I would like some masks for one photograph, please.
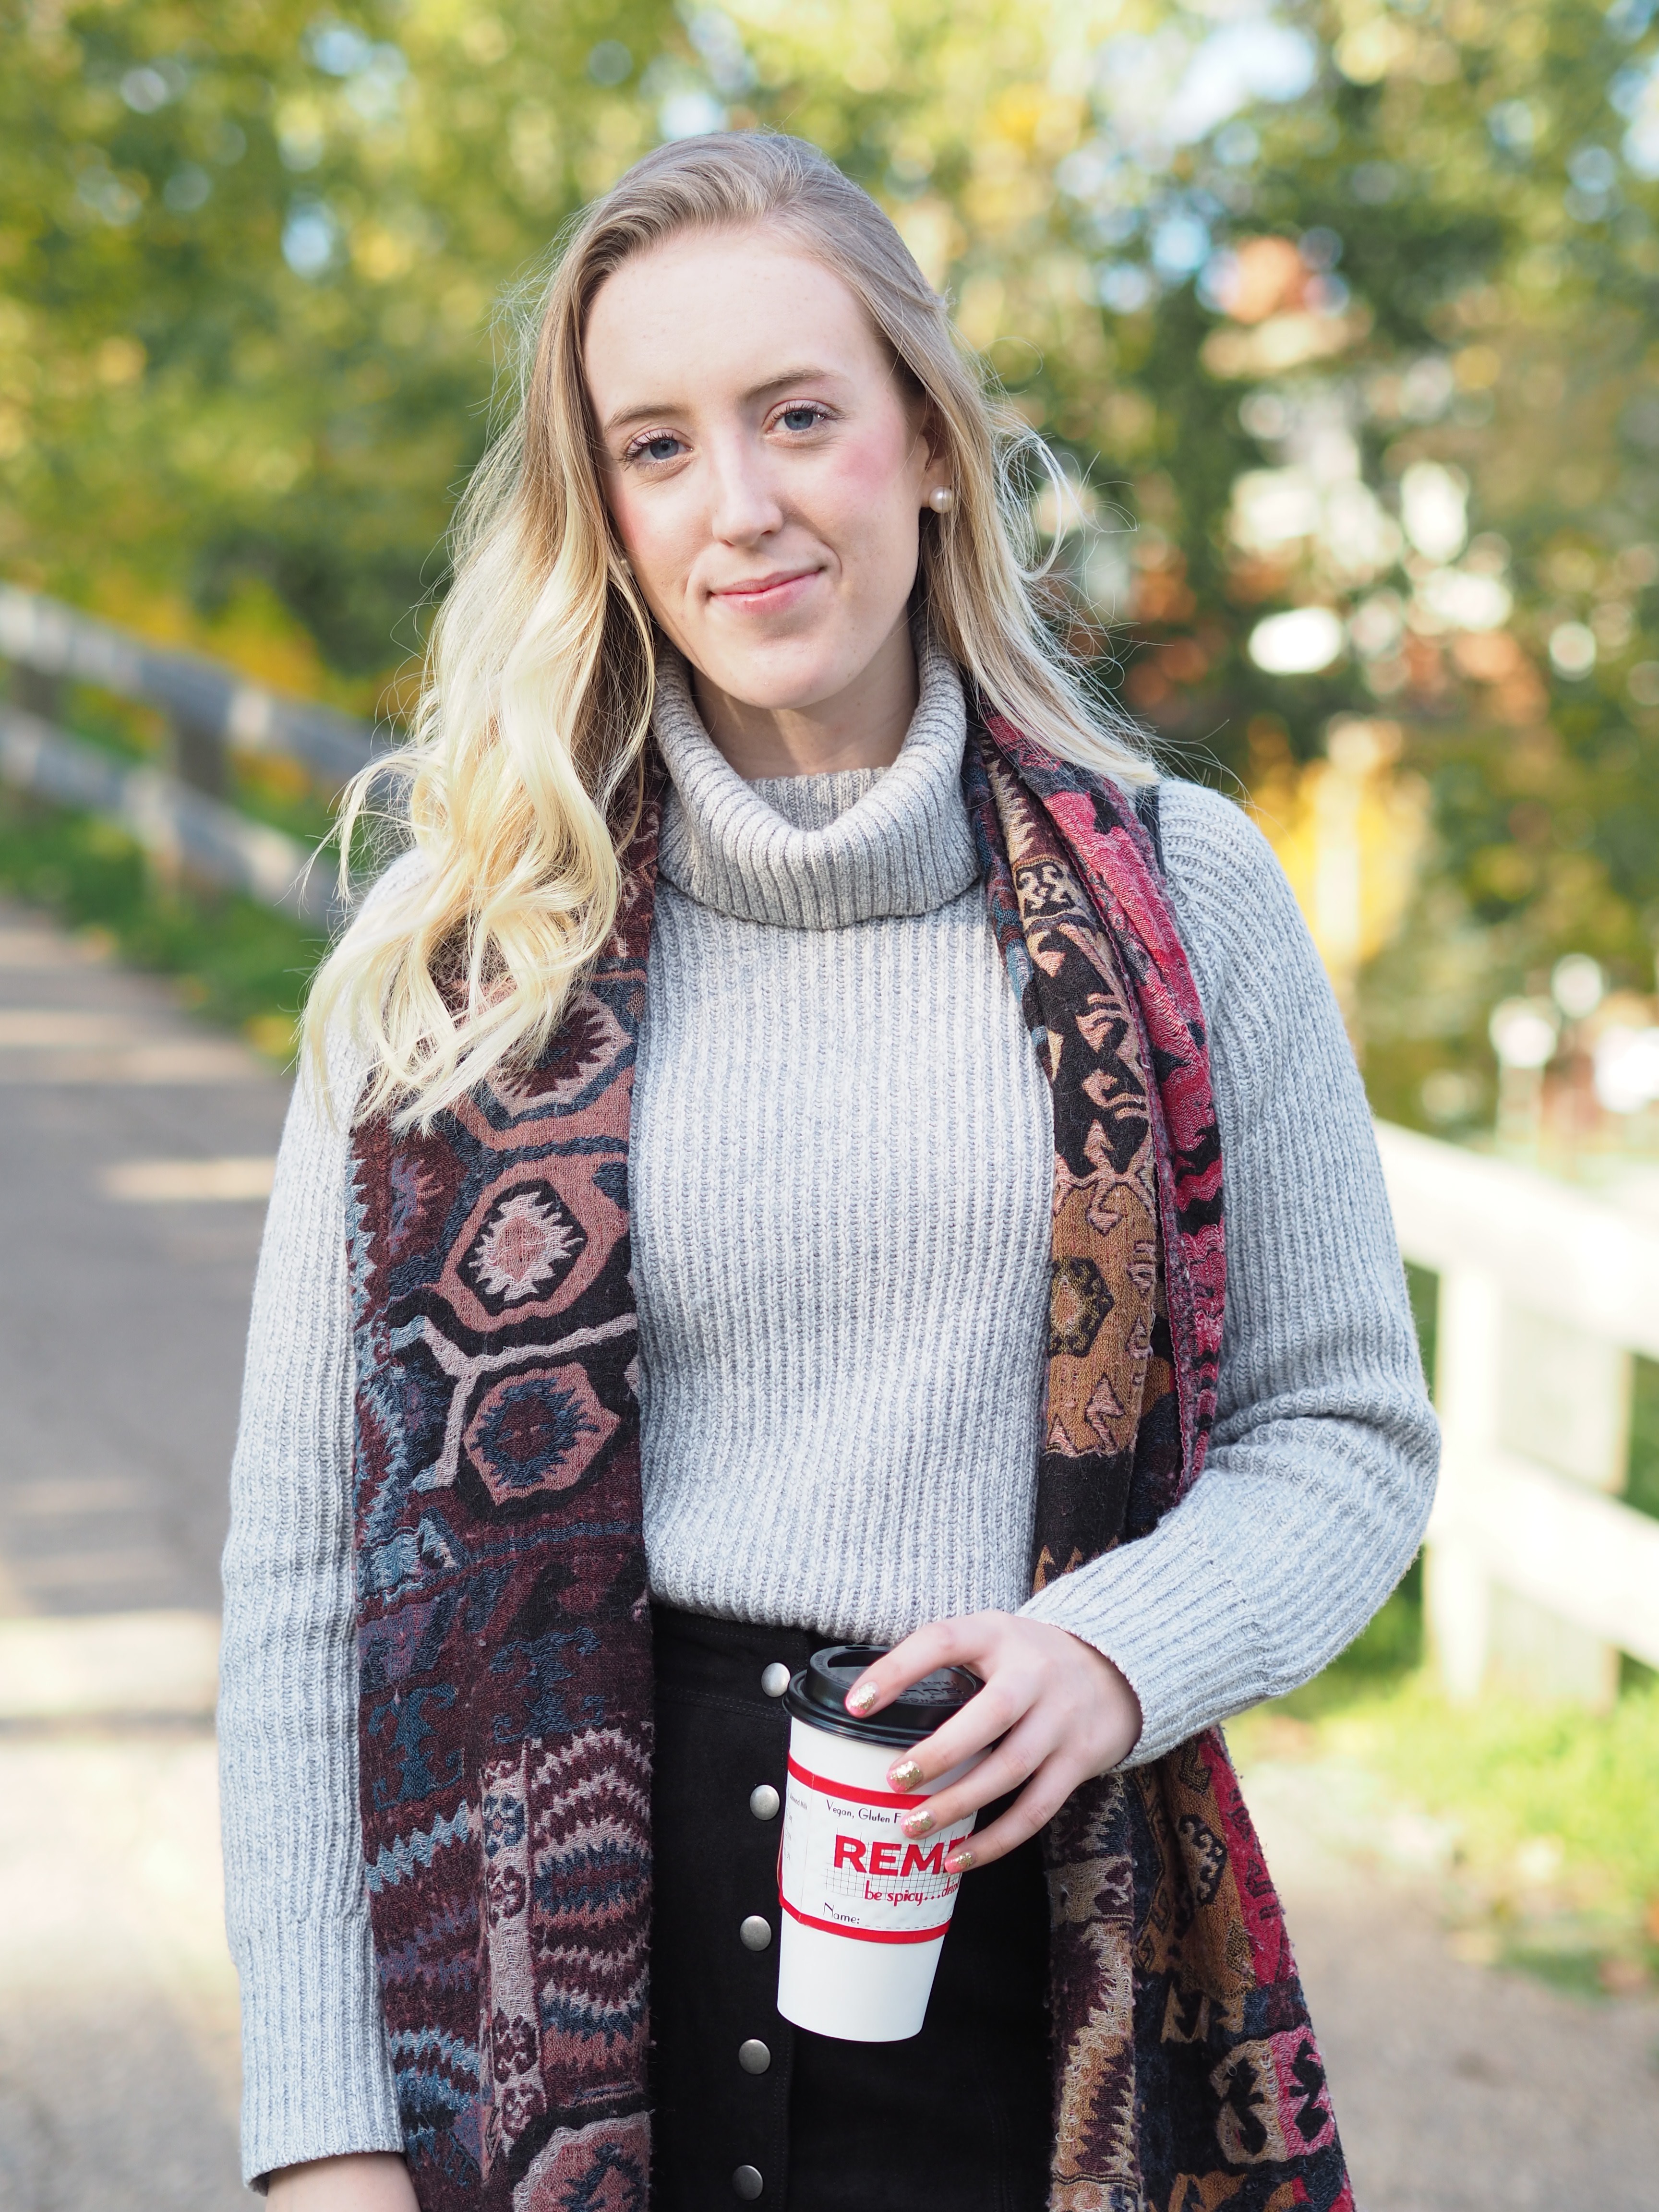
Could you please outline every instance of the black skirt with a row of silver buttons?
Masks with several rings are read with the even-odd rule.
[[[1042,2212],[1048,1916],[1035,1843],[964,1876],[920,2035],[845,2044],[776,2008],[781,1812],[768,1790],[781,1807],[790,1721],[761,1674],[776,1661],[794,1672],[830,1641],[655,1608],[655,2212]],[[752,1949],[754,1920],[765,1949]]]

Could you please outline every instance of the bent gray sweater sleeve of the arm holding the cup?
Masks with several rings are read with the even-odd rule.
[[[1365,1088],[1261,832],[1166,783],[1164,856],[1210,1024],[1228,1312],[1203,1473],[1022,1610],[1133,1683],[1141,1765],[1316,1674],[1409,1566],[1440,1433]]]

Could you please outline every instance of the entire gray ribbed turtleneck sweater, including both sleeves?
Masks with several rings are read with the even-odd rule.
[[[1020,1606],[1048,1091],[925,659],[894,768],[745,785],[684,679],[635,1088],[646,1548],[675,1604],[889,1639]],[[1210,1462],[1159,1528],[1024,1610],[1133,1681],[1152,1759],[1316,1672],[1411,1557],[1436,1429],[1365,1095],[1263,838],[1166,783],[1210,1020],[1228,1327]],[[349,1048],[332,1055],[352,1095]],[[226,1891],[243,2168],[398,2148],[363,1891],[347,1141],[301,1086],[248,1343],[226,1548]]]

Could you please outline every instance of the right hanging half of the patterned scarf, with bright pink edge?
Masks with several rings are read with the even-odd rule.
[[[991,925],[1053,1086],[1033,1586],[1199,1480],[1225,1312],[1203,1009],[1113,783],[1000,717],[969,739]],[[1075,1790],[1044,1829],[1051,2212],[1352,2212],[1283,1913],[1219,1730]]]

